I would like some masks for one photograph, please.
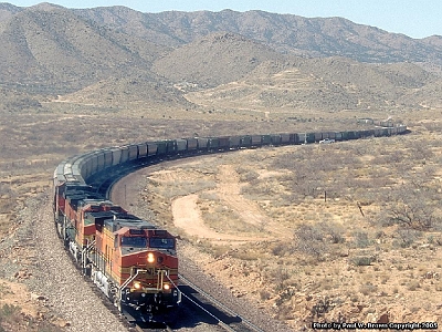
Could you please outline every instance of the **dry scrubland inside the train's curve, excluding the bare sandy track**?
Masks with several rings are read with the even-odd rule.
[[[412,134],[401,137],[242,151],[222,155],[221,163],[201,159],[200,167],[212,172],[198,177],[218,186],[230,180],[217,174],[235,165],[241,199],[265,216],[265,227],[255,228],[250,220],[244,227],[246,218],[225,200],[225,193],[201,188],[197,193],[204,224],[235,236],[259,238],[264,231],[269,239],[256,242],[251,237],[249,243],[227,245],[177,231],[217,257],[204,267],[210,273],[233,292],[249,280],[249,295],[273,305],[274,314],[294,326],[313,319],[312,312],[320,307],[317,297],[332,301],[322,315],[328,321],[338,319],[339,312],[346,320],[372,321],[387,311],[394,321],[436,319],[440,309],[428,297],[442,301],[438,250],[442,124],[411,125]],[[186,168],[172,172],[188,174]],[[194,162],[192,168],[198,168]],[[402,207],[414,207],[417,200],[431,206],[430,211],[415,207],[414,214],[419,220],[431,218],[431,227],[419,220],[410,225],[393,220],[399,198]],[[227,263],[229,269],[219,268]]]

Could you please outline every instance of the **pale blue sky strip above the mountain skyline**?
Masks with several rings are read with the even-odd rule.
[[[0,0],[4,1],[4,0]],[[19,7],[30,7],[43,1],[4,1]],[[168,10],[235,11],[263,10],[291,13],[307,18],[343,17],[389,32],[404,33],[411,38],[442,35],[442,0],[54,0],[46,1],[66,8],[125,6],[141,12]]]

